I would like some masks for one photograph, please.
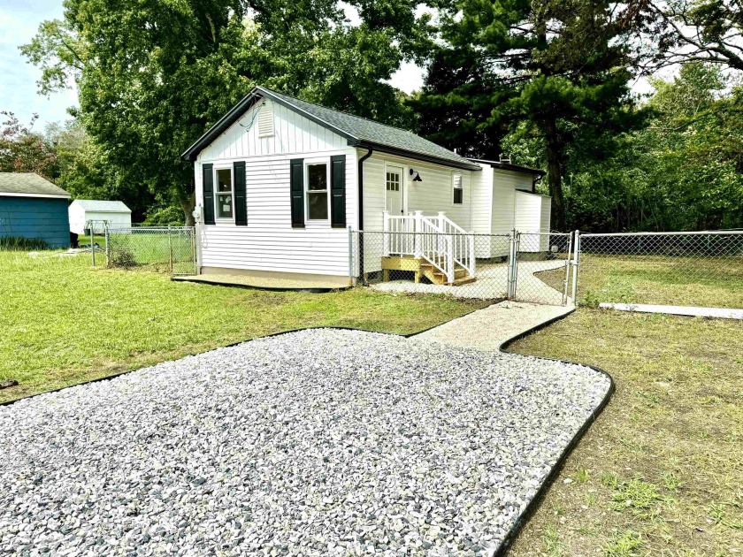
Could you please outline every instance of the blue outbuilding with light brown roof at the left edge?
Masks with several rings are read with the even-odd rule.
[[[50,248],[70,246],[70,195],[38,174],[0,172],[0,236],[38,238]]]

